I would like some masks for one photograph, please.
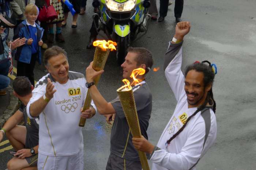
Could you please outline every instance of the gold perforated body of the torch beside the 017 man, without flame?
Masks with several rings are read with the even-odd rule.
[[[94,58],[93,58],[93,69],[95,71],[103,70],[109,55],[109,51],[110,51],[109,49],[106,49],[104,51],[100,47],[96,46]],[[99,75],[94,79],[95,86],[97,85],[100,77],[101,76]],[[85,102],[84,102],[83,111],[89,109],[90,105],[91,105],[91,95],[90,95],[90,88],[89,88],[87,91]],[[85,118],[80,118],[79,126],[84,127],[85,122],[86,122]]]

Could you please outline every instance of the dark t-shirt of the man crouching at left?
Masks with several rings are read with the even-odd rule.
[[[26,107],[23,104],[20,105],[19,111],[23,112],[23,120],[27,129],[25,148],[30,149],[31,147],[38,145],[39,118],[30,119],[27,116]]]

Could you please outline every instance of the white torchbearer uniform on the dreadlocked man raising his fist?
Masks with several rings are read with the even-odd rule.
[[[216,139],[217,123],[211,106],[193,116],[184,130],[168,145],[169,140],[197,108],[188,108],[181,72],[182,42],[171,44],[165,56],[165,76],[177,100],[175,111],[150,157],[152,170],[195,170],[195,165]]]

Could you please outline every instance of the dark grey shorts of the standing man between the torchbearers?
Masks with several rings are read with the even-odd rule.
[[[106,170],[142,170],[142,166],[140,161],[129,161],[110,153]]]

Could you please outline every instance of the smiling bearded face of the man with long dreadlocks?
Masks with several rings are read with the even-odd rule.
[[[211,84],[204,86],[203,72],[190,70],[185,78],[184,90],[187,94],[188,107],[198,107],[204,103]]]

